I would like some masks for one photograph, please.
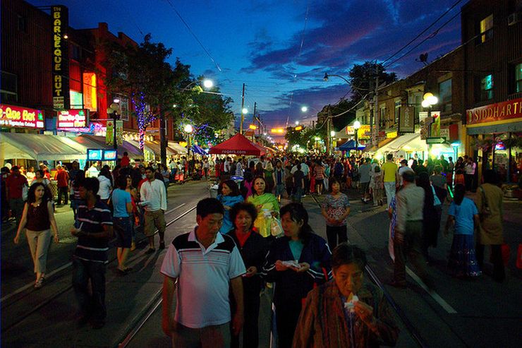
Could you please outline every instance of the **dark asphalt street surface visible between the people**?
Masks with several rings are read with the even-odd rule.
[[[208,195],[207,182],[189,182],[169,188],[169,210],[176,210],[166,217],[167,222],[178,217],[166,230],[166,239],[187,232],[195,225],[197,201]],[[349,191],[352,212],[348,219],[348,239],[368,253],[369,266],[380,282],[386,283],[392,275],[392,264],[387,255],[388,217],[382,207],[373,208],[358,200],[356,191]],[[322,200],[324,196],[317,198]],[[324,219],[311,196],[303,199],[310,214],[310,224],[317,234],[324,237]],[[521,329],[522,282],[520,270],[514,267],[516,246],[522,242],[521,203],[505,203],[508,220],[504,223],[506,241],[511,246],[511,260],[506,270],[506,281],[494,282],[482,275],[477,280],[457,280],[445,272],[451,236],[439,236],[439,246],[430,250],[432,262],[428,267],[435,278],[435,292],[430,294],[414,278],[408,277],[407,289],[395,289],[384,285],[391,299],[403,312],[406,320],[426,347],[519,347],[521,339],[516,332]],[[186,215],[179,217],[183,212]],[[443,221],[447,206],[444,208]],[[509,212],[509,213],[508,213]],[[60,226],[69,222],[67,212],[58,213]],[[114,272],[114,263],[107,268],[107,325],[101,330],[76,326],[76,302],[71,284],[71,268],[49,276],[39,291],[26,287],[32,285],[32,262],[28,246],[13,246],[12,240],[2,232],[2,345],[8,347],[116,347],[135,328],[142,316],[157,303],[162,289],[163,276],[159,273],[164,251],[150,256],[144,254],[144,246],[138,246],[130,256],[134,271],[122,277]],[[71,256],[74,241],[64,242],[67,231],[60,227],[62,241],[53,246],[49,258],[49,274],[65,265]],[[487,258],[486,258],[487,260]],[[18,275],[16,275],[18,272]],[[415,275],[408,273],[410,276]],[[16,276],[15,276],[16,275]],[[370,281],[368,274],[365,279]],[[260,313],[260,347],[269,346],[271,318],[269,290],[262,294]],[[145,325],[130,340],[128,347],[169,347],[169,338],[161,330],[161,306],[152,312]],[[396,314],[401,328],[397,347],[417,347],[407,325]],[[44,320],[45,325],[40,325]]]

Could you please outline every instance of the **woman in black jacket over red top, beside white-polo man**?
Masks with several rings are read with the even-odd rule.
[[[257,347],[259,328],[257,320],[260,308],[260,292],[263,281],[259,275],[268,251],[267,239],[253,231],[257,208],[252,203],[236,203],[232,206],[230,220],[234,229],[229,236],[236,242],[246,273],[243,275],[243,303],[245,323],[243,325],[243,347]],[[233,301],[231,301],[233,304]],[[233,313],[233,312],[232,312]],[[231,347],[239,347],[239,336],[232,335]]]

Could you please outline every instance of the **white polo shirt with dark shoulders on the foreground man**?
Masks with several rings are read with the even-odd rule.
[[[205,328],[231,320],[230,280],[246,270],[230,236],[218,232],[214,243],[205,249],[193,230],[174,239],[161,272],[178,278],[174,320],[188,328]]]

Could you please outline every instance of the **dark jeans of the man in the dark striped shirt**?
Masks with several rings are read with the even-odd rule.
[[[73,258],[73,288],[80,305],[80,312],[85,318],[104,322],[107,316],[105,308],[105,269],[101,262]],[[89,280],[92,294],[89,293]]]

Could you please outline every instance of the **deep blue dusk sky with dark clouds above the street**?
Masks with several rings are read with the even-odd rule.
[[[171,62],[178,56],[183,64],[191,66],[194,76],[212,78],[221,92],[232,97],[237,115],[241,112],[241,88],[245,83],[245,107],[250,110],[245,126],[250,124],[257,102],[262,120],[271,128],[286,126],[287,121],[308,123],[325,104],[334,104],[345,95],[349,97],[350,90],[343,80],[332,77],[324,82],[324,73],[348,77],[353,64],[385,61],[459,1],[29,2],[35,6],[68,6],[69,24],[76,29],[96,28],[98,22],[106,22],[111,32],[125,32],[136,42],[142,42],[143,36],[150,32],[153,42],[163,42],[173,49]],[[427,52],[428,61],[432,61],[459,46],[459,11],[463,4],[466,1],[460,1],[411,46],[448,21],[436,35],[388,66],[387,71],[396,72],[399,78],[407,76],[423,66],[415,61],[419,54]],[[301,112],[303,105],[309,107],[308,112]]]

